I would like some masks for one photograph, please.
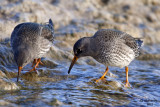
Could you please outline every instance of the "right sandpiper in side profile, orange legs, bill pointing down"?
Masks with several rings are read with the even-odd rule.
[[[91,56],[106,66],[105,73],[101,78],[96,80],[96,82],[104,79],[109,70],[108,66],[125,67],[125,87],[130,87],[128,81],[128,65],[135,57],[139,56],[139,49],[142,43],[143,41],[139,38],[134,38],[119,30],[98,30],[92,37],[83,37],[75,43],[73,47],[74,58],[68,70],[68,74],[78,58]]]

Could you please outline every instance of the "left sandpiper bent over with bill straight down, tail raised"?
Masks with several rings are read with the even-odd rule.
[[[49,23],[21,23],[18,24],[11,34],[11,46],[14,59],[18,65],[17,82],[22,68],[33,61],[35,65],[30,71],[36,71],[43,57],[50,49],[54,40],[53,22]]]

